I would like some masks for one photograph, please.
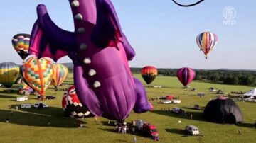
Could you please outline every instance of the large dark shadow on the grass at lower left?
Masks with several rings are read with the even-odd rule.
[[[49,113],[44,113],[46,110],[49,110]],[[55,114],[50,108],[46,110],[29,109],[28,112],[26,110],[0,110],[0,122],[6,122],[8,119],[8,124],[16,125],[64,128],[77,127],[76,119],[63,118],[63,115],[59,115],[59,113]],[[48,124],[48,122],[50,122],[50,124]]]

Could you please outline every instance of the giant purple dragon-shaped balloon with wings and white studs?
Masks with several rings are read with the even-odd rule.
[[[132,77],[128,60],[135,52],[119,25],[110,0],[70,0],[75,32],[58,28],[43,4],[31,33],[30,54],[57,61],[68,55],[74,64],[78,98],[92,114],[124,120],[133,109],[152,109],[142,83]]]

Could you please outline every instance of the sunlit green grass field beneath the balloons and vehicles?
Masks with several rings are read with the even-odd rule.
[[[139,74],[134,74],[142,81]],[[65,84],[60,88],[68,88],[73,84],[73,76],[69,74],[65,80]],[[237,101],[245,122],[240,125],[222,125],[212,122],[206,122],[201,118],[203,110],[193,110],[194,104],[206,106],[211,98],[218,96],[215,92],[208,91],[208,88],[218,88],[225,91],[226,95],[231,91],[249,91],[250,86],[231,86],[224,84],[211,84],[202,81],[193,81],[191,88],[196,87],[197,91],[189,91],[189,89],[182,88],[182,85],[175,77],[158,76],[150,86],[163,86],[163,88],[151,88],[145,84],[148,98],[156,98],[159,96],[174,95],[181,98],[181,103],[178,105],[158,104],[159,101],[152,101],[154,110],[136,114],[131,113],[126,122],[132,120],[142,119],[156,125],[159,130],[160,142],[255,142],[256,129],[253,128],[253,123],[256,119],[256,103],[248,103]],[[14,89],[18,85],[13,86]],[[114,121],[111,125],[107,124],[107,119],[86,118],[84,120],[84,127],[78,128],[73,118],[63,118],[64,113],[61,108],[61,100],[64,91],[54,91],[53,86],[50,86],[46,91],[47,95],[55,95],[57,99],[46,100],[46,104],[50,108],[46,110],[37,110],[31,108],[30,110],[16,110],[16,105],[22,103],[38,102],[36,96],[28,96],[29,100],[24,102],[16,102],[18,91],[14,93],[5,93],[6,88],[0,88],[0,142],[132,142],[132,138],[137,137],[137,142],[156,142],[149,137],[144,137],[140,132],[135,135],[128,133],[126,135],[118,134],[114,127]],[[198,92],[205,92],[206,96],[199,98]],[[8,105],[12,105],[9,109]],[[186,112],[193,115],[193,119],[189,116],[176,115],[168,111],[168,108],[180,107]],[[10,112],[13,112],[13,115]],[[6,123],[6,118],[9,118],[9,123]],[[51,124],[48,125],[47,121]],[[179,124],[178,121],[181,120]],[[200,132],[204,134],[201,136],[186,136],[183,131],[186,125],[196,125]],[[242,134],[238,134],[241,130]]]

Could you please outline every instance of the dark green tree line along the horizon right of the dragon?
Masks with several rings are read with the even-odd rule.
[[[142,68],[131,68],[132,73],[139,74]],[[159,76],[177,76],[178,69],[157,69]],[[196,80],[213,83],[256,86],[256,71],[228,69],[195,69]]]

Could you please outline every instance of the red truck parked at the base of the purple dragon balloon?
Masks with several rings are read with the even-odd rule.
[[[156,130],[156,126],[150,124],[149,122],[144,122],[142,120],[136,120],[135,125],[137,129],[144,134],[153,137],[154,139],[159,138],[159,132]]]

